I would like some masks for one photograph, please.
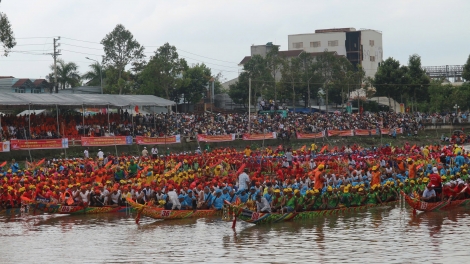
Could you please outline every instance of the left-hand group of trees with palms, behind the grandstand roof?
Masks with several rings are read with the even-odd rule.
[[[165,43],[146,61],[142,46],[123,25],[118,24],[102,40],[101,63],[90,65],[80,74],[74,62],[57,62],[57,85],[61,89],[83,84],[101,86],[108,94],[150,94],[175,102],[198,103],[214,82],[216,93],[222,89],[221,73],[213,76],[204,63],[189,66],[175,46]],[[55,85],[54,65],[47,79]]]

